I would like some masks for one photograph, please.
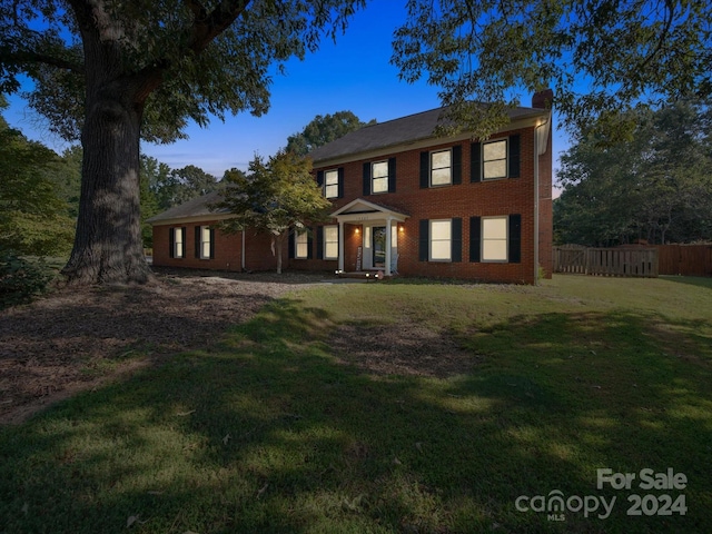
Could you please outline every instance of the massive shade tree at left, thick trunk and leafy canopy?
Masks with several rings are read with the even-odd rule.
[[[141,138],[269,105],[273,63],[304,58],[364,0],[16,0],[0,3],[0,91],[83,148],[70,284],[150,278],[141,244]],[[80,135],[81,134],[81,135]]]

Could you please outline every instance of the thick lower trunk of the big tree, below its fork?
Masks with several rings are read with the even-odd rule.
[[[123,100],[123,101],[122,101]],[[81,199],[70,284],[146,283],[140,228],[140,110],[119,97],[87,102]]]

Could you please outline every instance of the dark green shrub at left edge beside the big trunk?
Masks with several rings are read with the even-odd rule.
[[[41,295],[53,277],[42,258],[29,260],[13,250],[0,249],[0,309]]]

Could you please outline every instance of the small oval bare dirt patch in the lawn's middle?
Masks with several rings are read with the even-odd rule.
[[[343,325],[329,345],[344,363],[375,375],[445,378],[468,373],[478,359],[449,333],[435,333],[413,322],[394,325]]]

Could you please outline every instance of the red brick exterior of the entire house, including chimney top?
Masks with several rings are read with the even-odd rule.
[[[551,93],[548,93],[551,96]],[[546,93],[544,93],[546,96]],[[535,97],[535,107],[543,106],[541,96]],[[538,100],[537,100],[538,98]],[[374,205],[387,207],[393,212],[407,216],[404,221],[397,222],[397,273],[402,276],[424,276],[436,278],[462,278],[486,281],[503,281],[516,284],[534,284],[536,281],[536,259],[534,253],[534,214],[535,214],[535,136],[540,125],[546,122],[541,120],[546,117],[540,113],[536,120],[528,118],[515,122],[515,128],[494,135],[488,141],[497,139],[518,139],[518,174],[514,178],[502,178],[485,181],[472,181],[471,164],[473,152],[475,159],[479,159],[479,149],[468,138],[455,138],[454,140],[437,140],[432,145],[427,141],[411,146],[395,146],[390,152],[377,150],[376,152],[365,152],[360,157],[340,157],[337,160],[326,162],[317,161],[315,165],[315,176],[319,171],[338,170],[342,184],[339,185],[339,198],[333,199],[334,211],[348,207],[349,202],[356,199],[364,199]],[[548,117],[547,120],[551,120]],[[518,127],[517,127],[518,125]],[[545,140],[546,150],[538,156],[538,266],[547,277],[551,277],[553,267],[552,240],[553,240],[553,218],[552,218],[552,128],[546,125],[548,139]],[[543,142],[538,139],[538,142]],[[512,141],[510,141],[512,144]],[[422,154],[437,149],[457,149],[459,168],[462,169],[459,184],[422,187],[421,167]],[[455,154],[455,152],[453,152]],[[392,192],[380,192],[364,195],[364,164],[389,160],[395,165],[395,182],[390,181]],[[508,159],[507,159],[508,165]],[[478,168],[475,165],[474,168]],[[390,180],[393,177],[389,177]],[[512,218],[511,216],[514,216]],[[471,258],[471,248],[481,247],[475,235],[471,236],[471,225],[476,228],[483,217],[510,217],[512,221],[521,222],[518,234],[520,247],[516,259],[506,263],[487,263]],[[459,219],[458,227],[462,227],[462,244],[452,261],[428,261],[423,260],[419,255],[421,231],[423,221],[437,219]],[[154,264],[158,266],[176,266],[190,268],[210,268],[224,270],[240,270],[243,267],[241,257],[241,234],[222,235],[215,231],[214,257],[210,259],[199,259],[195,251],[195,227],[196,225],[215,225],[216,220],[194,220],[185,224],[181,220],[167,220],[154,222]],[[517,222],[515,226],[520,227]],[[328,222],[337,225],[335,218]],[[373,225],[374,221],[365,222]],[[394,226],[396,224],[394,222]],[[185,227],[185,257],[170,257],[170,228]],[[368,229],[370,230],[370,229]],[[366,227],[362,224],[354,224],[348,220],[343,224],[343,247],[344,261],[343,269],[346,271],[364,270],[369,265],[357,266],[359,247],[364,246],[364,235]],[[285,244],[283,249],[283,268],[295,270],[317,270],[334,271],[339,268],[338,260],[319,259],[322,245],[317,236],[322,229],[312,228],[309,238],[308,259],[295,259],[294,247]],[[473,239],[471,239],[471,237]],[[508,240],[511,237],[507,238]],[[515,238],[516,239],[516,238]],[[514,240],[515,240],[514,239]],[[484,245],[483,245],[484,246]],[[276,258],[270,249],[270,237],[268,235],[255,235],[249,230],[245,234],[245,269],[246,270],[274,270]]]

